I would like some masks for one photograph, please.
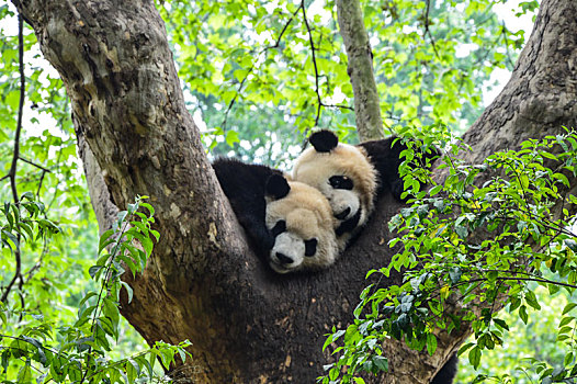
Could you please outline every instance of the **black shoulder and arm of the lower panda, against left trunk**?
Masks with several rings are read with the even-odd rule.
[[[213,168],[238,222],[252,240],[253,249],[267,260],[274,245],[274,237],[264,223],[265,187],[271,177],[282,178],[281,171],[267,166],[248,165],[225,158],[215,160]]]

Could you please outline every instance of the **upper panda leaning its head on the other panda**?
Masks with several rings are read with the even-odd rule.
[[[352,146],[339,143],[326,129],[312,134],[308,140],[313,147],[296,159],[293,180],[318,189],[328,199],[339,221],[336,234],[342,247],[366,224],[380,196],[392,193],[401,201],[398,167],[407,146],[395,137]]]

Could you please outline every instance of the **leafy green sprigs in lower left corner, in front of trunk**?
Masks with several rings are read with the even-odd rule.
[[[2,303],[2,382],[135,383],[139,377],[155,377],[157,358],[166,369],[177,353],[184,360],[186,342],[178,347],[158,342],[148,351],[120,360],[109,357],[111,341],[117,340],[121,332],[118,305],[123,287],[127,302],[132,301],[132,289],[121,275],[126,267],[133,274],[142,272],[152,250],[151,237],[159,237],[150,228],[154,208],[142,199],[121,212],[113,228],[102,234],[99,258],[89,270],[97,290],[83,295],[72,324],[56,324],[42,312],[23,307],[23,301]],[[138,212],[139,206],[147,208],[148,215]],[[20,251],[19,238],[49,240],[60,231],[42,218],[44,204],[34,201],[32,193],[24,194],[20,204],[5,203],[1,211],[2,250],[11,253]]]

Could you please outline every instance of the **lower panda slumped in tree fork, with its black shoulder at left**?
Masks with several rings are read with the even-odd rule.
[[[213,169],[253,249],[278,273],[316,270],[339,255],[327,199],[267,166],[217,159]]]

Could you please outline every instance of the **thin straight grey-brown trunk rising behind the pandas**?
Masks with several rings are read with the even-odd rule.
[[[354,121],[361,142],[383,137],[381,104],[373,74],[373,53],[364,27],[359,0],[337,0],[337,15],[344,49],[347,72],[354,94]]]

